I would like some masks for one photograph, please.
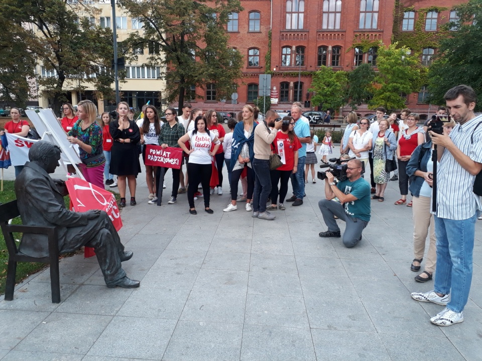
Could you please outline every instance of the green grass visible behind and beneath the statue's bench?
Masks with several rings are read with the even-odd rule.
[[[4,180],[4,191],[0,192],[0,202],[8,203],[17,199],[14,190],[13,180]],[[70,203],[69,196],[64,197],[65,205],[68,208]],[[21,224],[19,217],[12,221],[14,224]],[[20,233],[14,233],[15,239],[20,239]],[[73,254],[71,254],[73,255]],[[63,255],[65,257],[66,255]],[[0,233],[0,294],[5,293],[5,283],[7,281],[7,266],[9,261],[9,252],[7,250],[7,245],[5,244],[4,235]],[[47,266],[45,263],[33,263],[33,262],[19,262],[17,263],[17,274],[15,277],[15,282],[18,283],[29,275],[36,273]]]

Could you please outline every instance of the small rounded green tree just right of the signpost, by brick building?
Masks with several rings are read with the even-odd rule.
[[[348,78],[344,71],[333,71],[331,68],[321,66],[313,74],[310,92],[314,92],[311,97],[311,105],[320,105],[322,109],[337,110],[346,104],[346,90]]]

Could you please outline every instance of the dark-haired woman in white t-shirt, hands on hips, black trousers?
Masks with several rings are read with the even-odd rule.
[[[188,149],[186,142],[190,141],[191,149]],[[187,164],[187,173],[189,174],[189,186],[187,188],[187,199],[189,201],[189,213],[197,214],[194,207],[194,193],[197,192],[197,185],[201,182],[202,191],[204,193],[204,210],[213,214],[209,208],[209,180],[212,173],[212,157],[219,148],[219,139],[210,133],[206,128],[206,119],[198,116],[194,121],[194,129],[184,134],[177,141],[179,146],[187,154],[189,154],[189,163]],[[211,151],[211,145],[214,148]]]

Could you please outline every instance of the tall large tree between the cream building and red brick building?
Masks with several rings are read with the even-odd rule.
[[[215,86],[215,99],[227,98],[242,77],[243,57],[228,45],[225,26],[230,13],[243,10],[238,0],[119,0],[132,17],[142,20],[143,34],[133,33],[128,48],[151,47],[148,64],[164,65],[168,102],[193,99],[191,86]],[[197,97],[200,97],[197,95]],[[202,98],[202,97],[201,97]]]

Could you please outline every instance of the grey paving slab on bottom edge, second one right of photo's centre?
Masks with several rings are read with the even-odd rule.
[[[392,360],[376,332],[314,329],[311,333],[318,360]]]

